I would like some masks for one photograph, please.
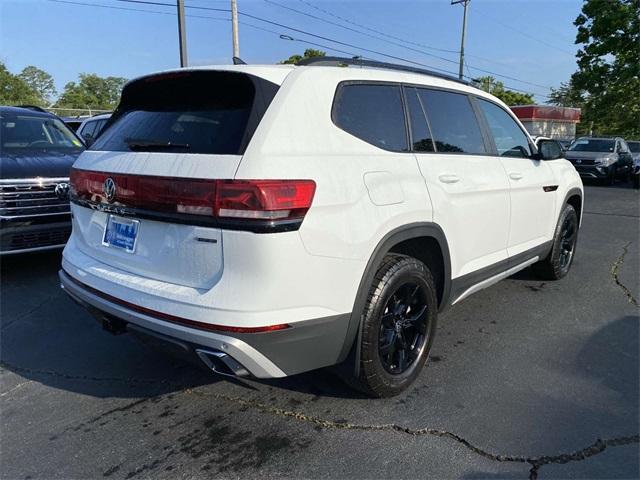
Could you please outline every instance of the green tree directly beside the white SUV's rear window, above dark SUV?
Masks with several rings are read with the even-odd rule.
[[[126,81],[120,77],[102,78],[94,73],[81,73],[77,83],[69,82],[64,86],[56,107],[113,110]]]

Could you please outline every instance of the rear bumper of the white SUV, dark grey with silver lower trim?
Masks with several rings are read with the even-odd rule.
[[[305,320],[273,332],[216,333],[119,305],[83,286],[64,270],[60,270],[59,277],[67,294],[98,318],[121,320],[127,324],[127,329],[141,328],[167,341],[180,343],[201,358],[202,351],[228,355],[257,378],[285,377],[337,363],[350,317],[350,314],[343,314]]]

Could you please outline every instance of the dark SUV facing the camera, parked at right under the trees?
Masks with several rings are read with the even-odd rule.
[[[580,137],[565,152],[583,178],[612,185],[616,179],[629,179],[633,167],[631,152],[620,137]]]

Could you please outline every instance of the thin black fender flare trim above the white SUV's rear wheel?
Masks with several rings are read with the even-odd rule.
[[[378,267],[382,263],[383,258],[387,253],[389,253],[391,248],[398,243],[419,237],[433,238],[434,240],[436,240],[436,242],[438,242],[438,245],[440,246],[440,250],[443,256],[444,285],[442,291],[442,301],[440,302],[439,310],[442,311],[448,306],[449,294],[451,291],[451,257],[449,254],[449,244],[447,243],[447,238],[442,231],[442,228],[432,222],[417,222],[403,225],[402,227],[398,227],[390,231],[382,238],[382,240],[380,240],[376,248],[373,250],[369,261],[367,262],[364,274],[362,275],[362,278],[360,280],[360,285],[358,286],[356,298],[353,302],[353,309],[351,310],[351,315],[349,317],[349,325],[347,327],[346,337],[342,345],[342,350],[340,352],[338,362],[342,362],[347,358],[347,356],[351,352],[356,336],[360,336],[362,314],[367,302],[369,289],[371,288],[373,277],[375,276]],[[356,345],[356,349],[357,351],[355,353],[357,359],[360,357],[359,342]],[[356,363],[356,368],[358,366],[359,362]]]

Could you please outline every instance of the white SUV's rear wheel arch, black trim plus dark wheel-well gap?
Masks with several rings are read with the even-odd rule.
[[[430,269],[434,269],[435,272],[432,273],[438,289],[438,310],[442,311],[449,305],[451,257],[446,236],[440,226],[430,222],[419,222],[392,230],[380,240],[367,262],[353,303],[339,362],[344,361],[350,353],[354,353],[356,359],[359,358],[359,352],[353,351],[352,347],[360,332],[362,312],[371,282],[388,253],[413,256],[428,265]],[[356,365],[358,366],[359,362],[356,362]]]

